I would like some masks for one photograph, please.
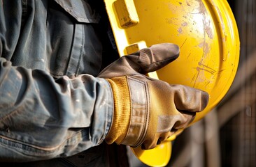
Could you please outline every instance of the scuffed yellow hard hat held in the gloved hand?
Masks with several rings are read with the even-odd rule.
[[[150,77],[205,90],[210,99],[194,122],[211,111],[229,90],[239,63],[239,33],[226,0],[105,0],[120,56],[172,42],[180,56]],[[176,136],[172,136],[174,139]],[[165,166],[171,142],[152,150],[133,148],[149,166]]]

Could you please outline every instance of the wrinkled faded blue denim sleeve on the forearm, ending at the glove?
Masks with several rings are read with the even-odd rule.
[[[66,157],[99,145],[111,125],[112,96],[105,79],[53,79],[0,58],[0,161]]]

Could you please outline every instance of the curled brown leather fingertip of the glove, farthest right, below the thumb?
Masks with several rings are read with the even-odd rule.
[[[209,100],[208,93],[183,85],[171,87],[175,91],[174,103],[179,111],[199,112],[206,108]]]

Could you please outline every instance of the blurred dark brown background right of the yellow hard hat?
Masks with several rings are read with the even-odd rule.
[[[176,138],[168,166],[256,166],[256,0],[228,2],[241,42],[236,78],[224,100]]]

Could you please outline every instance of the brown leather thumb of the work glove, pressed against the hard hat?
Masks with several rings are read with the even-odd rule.
[[[159,70],[178,58],[180,49],[172,43],[162,43],[122,56],[101,71],[98,77],[113,78]]]

